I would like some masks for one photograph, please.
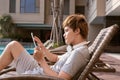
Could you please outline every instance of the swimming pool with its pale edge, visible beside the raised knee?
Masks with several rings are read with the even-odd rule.
[[[33,54],[33,52],[34,52],[34,45],[33,44],[23,45],[23,46],[30,54]],[[5,45],[0,45],[0,55],[2,54],[4,48],[5,48]]]

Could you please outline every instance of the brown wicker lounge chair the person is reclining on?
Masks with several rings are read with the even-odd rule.
[[[91,59],[84,68],[82,73],[79,73],[79,71],[76,73],[76,75],[72,78],[72,80],[99,80],[92,72],[93,68],[95,67],[96,63],[99,61],[99,57],[101,56],[102,52],[104,51],[105,47],[107,44],[110,42],[110,40],[113,38],[115,33],[119,30],[118,25],[112,25],[108,28],[104,28],[100,31],[92,45],[89,47],[90,54],[91,54]],[[25,77],[26,76],[26,77]],[[91,79],[92,76],[92,79]],[[30,75],[32,77],[32,75]],[[33,76],[34,79],[32,80],[37,80],[39,76]],[[40,76],[42,78],[42,76]],[[60,80],[59,78],[54,78],[54,77],[49,77],[48,76],[43,76],[46,77],[47,79],[44,80]],[[12,79],[11,79],[12,78]],[[12,76],[12,77],[7,77],[7,78],[2,78],[0,80],[21,80],[19,79],[28,79],[29,75],[17,75],[17,76]],[[35,79],[36,78],[36,79]],[[93,79],[94,78],[94,79]],[[40,79],[40,78],[39,78]],[[43,79],[43,78],[42,78]]]

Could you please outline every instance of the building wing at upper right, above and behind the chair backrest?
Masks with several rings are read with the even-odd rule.
[[[86,0],[86,16],[89,22],[89,40],[93,41],[99,30],[118,24],[120,26],[119,0]],[[92,35],[92,36],[90,36]],[[106,50],[120,52],[120,31],[111,40]]]

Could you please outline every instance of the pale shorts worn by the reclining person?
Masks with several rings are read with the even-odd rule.
[[[13,65],[20,74],[44,74],[37,61],[26,50],[13,61]]]

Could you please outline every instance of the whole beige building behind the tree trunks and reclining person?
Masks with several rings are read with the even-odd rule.
[[[30,39],[30,32],[42,41],[49,39],[53,15],[52,0],[0,0],[0,15],[10,14],[16,24],[17,32]],[[119,0],[64,0],[63,18],[70,14],[81,13],[89,23],[88,40],[95,39],[99,31],[113,24],[120,26]],[[110,47],[120,46],[120,31],[110,43]],[[119,50],[116,50],[119,52]]]

